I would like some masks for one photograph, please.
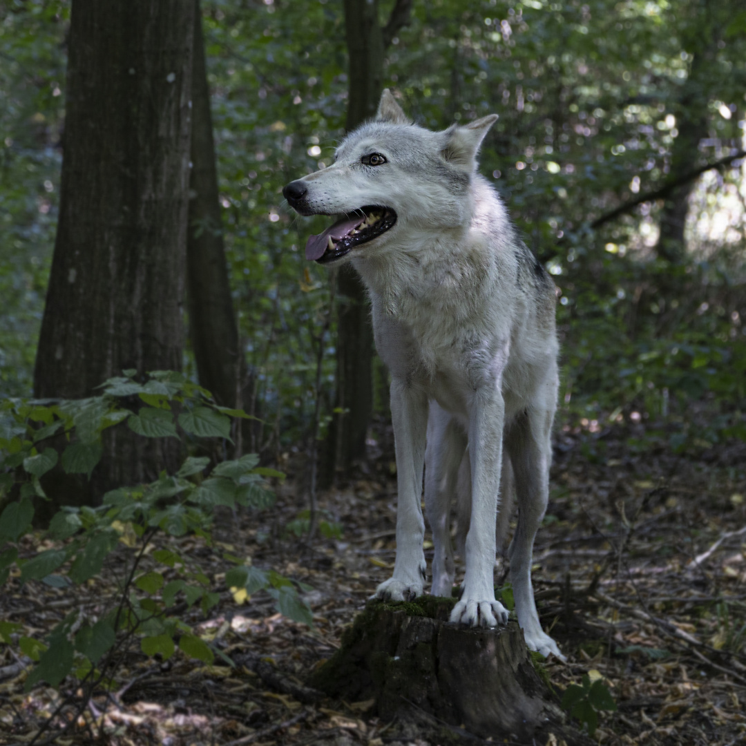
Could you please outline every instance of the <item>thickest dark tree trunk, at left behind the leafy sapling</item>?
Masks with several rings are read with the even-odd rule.
[[[181,369],[194,6],[75,0],[60,219],[34,392]],[[104,437],[94,492],[173,468],[176,439]]]

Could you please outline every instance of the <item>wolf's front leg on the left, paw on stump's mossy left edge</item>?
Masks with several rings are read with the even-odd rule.
[[[425,578],[421,494],[427,396],[419,387],[392,380],[391,416],[398,486],[396,560],[393,576],[377,587],[374,598],[409,601],[422,595]]]

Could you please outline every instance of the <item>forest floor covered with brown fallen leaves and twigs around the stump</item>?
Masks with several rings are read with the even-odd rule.
[[[568,662],[549,659],[545,667],[560,693],[589,671],[604,677],[618,709],[601,715],[594,736],[601,744],[745,743],[746,444],[695,442],[693,450],[674,455],[652,431],[639,424],[558,433],[533,583],[542,624]],[[392,741],[388,724],[371,714],[372,701],[304,701],[301,684],[339,648],[342,631],[389,577],[395,466],[379,454],[369,473],[319,495],[322,517],[339,523],[342,535],[319,536],[309,547],[286,531],[307,508],[304,480],[292,478],[291,463],[291,478],[277,486],[274,508],[237,518],[219,515],[214,538],[257,567],[311,586],[304,597],[313,609],[313,627],[283,618],[265,592],[239,606],[225,589],[207,618],[192,608],[182,619],[228,656],[269,662],[263,674],[256,666],[231,668],[218,658],[206,666],[181,653],[158,664],[133,648],[122,656],[114,691],[94,697],[75,718],[68,715],[69,727],[52,742]],[[170,541],[182,555],[198,558],[220,585],[228,565],[201,539]],[[430,560],[428,542],[425,547]],[[75,594],[43,583],[16,586],[0,598],[0,618],[21,621],[26,634],[43,638],[76,606],[95,612],[115,592],[114,575],[104,573]],[[75,686],[63,685],[60,692],[37,686],[24,693],[22,663],[7,645],[0,647],[3,744],[34,742],[62,698],[75,698]],[[49,742],[52,733],[46,730],[35,742]],[[430,746],[421,739],[408,742]]]

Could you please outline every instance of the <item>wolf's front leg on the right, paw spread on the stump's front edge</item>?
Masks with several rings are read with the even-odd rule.
[[[502,464],[504,402],[499,386],[477,389],[471,402],[468,451],[471,461],[471,519],[466,536],[466,574],[451,621],[495,627],[508,621],[495,601],[495,521]]]

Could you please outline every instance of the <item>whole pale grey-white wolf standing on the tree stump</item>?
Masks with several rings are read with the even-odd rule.
[[[292,181],[283,195],[302,216],[341,216],[310,236],[305,254],[327,265],[349,261],[360,274],[391,373],[396,559],[374,597],[423,593],[424,467],[431,592],[451,596],[454,586],[455,496],[466,571],[451,621],[507,623],[493,578],[507,527],[503,510],[496,530],[504,473],[518,504],[507,550],[518,624],[531,650],[562,658],[542,630],[530,577],[557,407],[556,293],[477,173],[477,151],[497,119],[429,131],[384,90],[375,118],[345,137],[333,165]]]

